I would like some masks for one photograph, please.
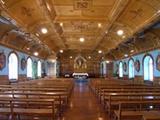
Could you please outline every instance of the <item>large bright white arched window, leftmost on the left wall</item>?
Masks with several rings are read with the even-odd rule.
[[[9,55],[9,79],[18,79],[18,58],[15,53]]]

